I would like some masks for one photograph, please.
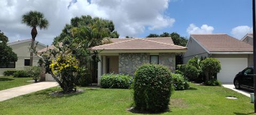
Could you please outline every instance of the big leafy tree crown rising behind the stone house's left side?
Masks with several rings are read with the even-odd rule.
[[[64,29],[62,30],[61,34],[54,38],[54,42],[64,42],[65,39],[72,38],[71,32],[74,28],[99,28],[103,33],[101,33],[102,37],[109,37],[109,38],[118,38],[119,34],[115,30],[115,25],[113,21],[101,19],[98,17],[92,18],[90,15],[82,15],[81,17],[75,17],[70,20],[70,24],[66,24]],[[94,30],[95,31],[95,30]],[[93,35],[95,36],[95,35]],[[90,37],[90,36],[89,36]],[[100,37],[100,36],[99,36]],[[97,40],[97,42],[100,39]],[[92,46],[95,46],[98,44],[92,44]]]

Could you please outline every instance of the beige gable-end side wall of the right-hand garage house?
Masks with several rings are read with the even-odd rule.
[[[186,64],[188,60],[193,58],[194,56],[209,57],[209,54],[201,47],[194,39],[190,38],[188,41],[188,50],[183,54],[183,63]]]

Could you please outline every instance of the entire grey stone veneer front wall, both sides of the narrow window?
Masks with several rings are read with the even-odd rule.
[[[150,53],[119,53],[119,73],[134,75],[143,63],[149,63]],[[175,72],[175,53],[159,53],[159,64]]]

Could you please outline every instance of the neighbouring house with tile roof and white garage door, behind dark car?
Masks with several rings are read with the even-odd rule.
[[[253,46],[227,34],[190,35],[183,63],[194,56],[214,57],[221,62],[217,79],[233,83],[235,75],[253,65]]]

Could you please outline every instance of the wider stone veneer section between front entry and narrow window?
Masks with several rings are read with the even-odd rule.
[[[149,53],[119,53],[119,73],[134,75],[140,65],[149,63]]]

